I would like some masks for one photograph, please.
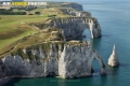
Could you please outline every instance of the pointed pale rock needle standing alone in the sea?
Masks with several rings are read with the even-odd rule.
[[[118,67],[119,66],[118,56],[116,53],[115,45],[113,47],[113,53],[108,59],[108,66],[110,66],[110,67]]]

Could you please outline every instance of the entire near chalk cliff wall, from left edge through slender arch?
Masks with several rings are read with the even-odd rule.
[[[101,74],[105,74],[105,64],[88,42],[52,42],[43,47],[20,49],[21,54],[8,55],[0,62],[0,76],[90,76],[92,60],[101,64]],[[44,49],[46,48],[46,49]]]

